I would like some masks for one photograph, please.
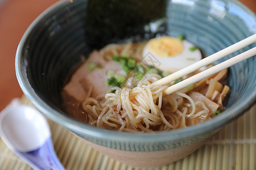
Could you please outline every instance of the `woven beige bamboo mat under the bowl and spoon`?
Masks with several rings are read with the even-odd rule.
[[[22,104],[32,105],[26,97]],[[52,141],[60,162],[66,169],[141,170],[116,162],[76,138],[71,132],[48,120]],[[172,169],[256,169],[256,104],[238,120],[226,125],[213,139],[186,158],[158,170]],[[28,170],[0,139],[0,169]]]

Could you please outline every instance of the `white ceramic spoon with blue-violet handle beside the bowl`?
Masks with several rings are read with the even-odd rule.
[[[0,113],[3,142],[34,169],[64,169],[57,158],[46,118],[27,105],[10,105]]]

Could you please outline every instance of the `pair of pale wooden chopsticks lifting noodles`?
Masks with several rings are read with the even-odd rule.
[[[184,69],[181,69],[179,71],[176,71],[173,74],[170,74],[154,83],[149,84],[149,87],[154,87],[158,85],[164,85],[170,82],[173,82],[176,79],[181,78],[184,75],[187,75],[189,73],[192,73],[193,71],[200,69],[203,66],[209,65],[210,63],[217,61],[220,58],[223,58],[227,56],[228,54],[231,54],[233,52],[236,52],[237,50],[252,44],[253,42],[256,41],[256,34],[247,37],[246,39],[243,39],[236,44],[230,45],[225,49],[220,50],[217,53],[212,54],[209,57],[206,57],[204,59],[201,59],[200,61],[193,63],[192,65],[185,67]],[[238,54],[235,57],[232,57],[224,62],[219,63],[218,65],[215,65],[213,67],[210,67],[207,70],[202,71],[199,74],[193,75],[190,78],[187,78],[179,83],[176,83],[172,85],[171,87],[168,87],[166,90],[163,91],[164,95],[172,94],[173,92],[180,90],[181,88],[187,87],[190,84],[196,83],[201,79],[206,78],[209,75],[215,74],[218,71],[224,70],[232,65],[235,65],[238,62],[243,61],[244,59],[247,59],[249,57],[252,57],[256,54],[256,47],[247,50],[246,52],[243,52],[241,54]]]

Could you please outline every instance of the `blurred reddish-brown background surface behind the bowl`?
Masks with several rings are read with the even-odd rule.
[[[70,0],[72,1],[72,0]],[[15,75],[15,53],[33,20],[57,0],[0,0],[0,111],[22,96]],[[241,0],[256,12],[255,0]],[[256,25],[255,25],[256,27]]]

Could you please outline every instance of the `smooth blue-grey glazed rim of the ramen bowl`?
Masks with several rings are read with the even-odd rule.
[[[237,3],[243,10],[254,14],[249,8],[247,8],[243,3],[237,0],[230,0],[230,2]],[[118,142],[142,142],[143,143],[155,143],[155,142],[175,142],[183,139],[193,138],[197,135],[208,133],[209,131],[218,131],[230,121],[241,116],[242,113],[245,113],[251,105],[255,103],[256,99],[256,86],[254,91],[247,97],[245,100],[236,104],[236,110],[234,110],[234,105],[220,115],[214,117],[211,120],[201,122],[200,124],[189,126],[189,128],[184,129],[175,129],[170,131],[161,131],[158,133],[123,133],[114,130],[108,130],[103,128],[97,128],[88,124],[84,124],[74,118],[71,118],[65,114],[60,113],[56,109],[49,107],[40,97],[36,94],[34,89],[31,87],[29,80],[26,75],[23,75],[24,66],[22,63],[22,54],[24,45],[28,39],[28,36],[33,32],[36,25],[40,23],[47,15],[51,14],[54,10],[61,8],[67,3],[71,3],[69,0],[59,1],[48,7],[47,10],[42,12],[27,28],[26,32],[22,36],[22,39],[19,42],[18,48],[16,50],[15,56],[15,71],[16,78],[20,88],[22,89],[24,95],[31,101],[31,103],[44,115],[46,115],[52,121],[55,121],[57,124],[64,126],[65,128],[73,131],[76,134],[88,135],[89,137],[96,137],[102,140],[109,139],[110,141]],[[255,14],[254,14],[254,18]]]

